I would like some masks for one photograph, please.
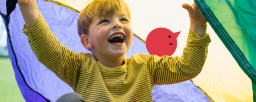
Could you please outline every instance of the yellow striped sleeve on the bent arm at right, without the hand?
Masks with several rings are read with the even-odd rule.
[[[180,57],[146,55],[151,80],[160,85],[194,78],[202,70],[210,41],[208,33],[201,38],[189,29],[187,44]]]

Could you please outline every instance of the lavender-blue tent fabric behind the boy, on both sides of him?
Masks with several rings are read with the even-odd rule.
[[[5,2],[6,0],[2,0],[0,5],[1,15],[4,18],[8,31],[9,56],[13,64],[17,83],[25,100],[54,101],[67,92],[73,92],[70,86],[36,59],[27,41],[27,36],[22,33],[24,20],[18,5],[10,15],[10,22],[7,21]],[[40,12],[49,24],[49,28],[62,44],[76,52],[89,52],[79,42],[80,38],[77,34],[76,24],[78,12],[44,0],[37,0],[37,3]],[[145,42],[137,37],[137,35],[134,35],[133,45],[126,53],[126,56],[131,57],[135,53],[142,52],[149,54]],[[176,91],[167,91],[167,88]],[[155,101],[171,101],[170,99],[173,101],[211,101],[191,80],[163,85],[163,87],[155,85],[153,99]]]

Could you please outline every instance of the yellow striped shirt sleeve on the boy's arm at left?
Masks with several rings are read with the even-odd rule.
[[[23,32],[28,36],[37,59],[74,89],[84,54],[70,51],[62,45],[41,13],[32,25],[24,25]]]

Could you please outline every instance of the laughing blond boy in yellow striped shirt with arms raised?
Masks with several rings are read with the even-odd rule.
[[[78,33],[93,54],[75,53],[59,43],[35,0],[18,3],[25,20],[24,33],[38,60],[79,94],[65,94],[59,101],[76,96],[86,101],[152,101],[154,84],[191,79],[206,60],[210,42],[207,21],[195,3],[182,5],[189,12],[191,25],[181,57],[140,53],[131,58],[125,57],[133,31],[130,9],[123,0],[94,0],[81,11]]]

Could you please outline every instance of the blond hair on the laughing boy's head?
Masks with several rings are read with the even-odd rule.
[[[77,27],[79,36],[88,34],[93,18],[111,16],[115,11],[126,12],[129,20],[131,20],[131,11],[123,0],[93,0],[83,8],[78,17]]]

